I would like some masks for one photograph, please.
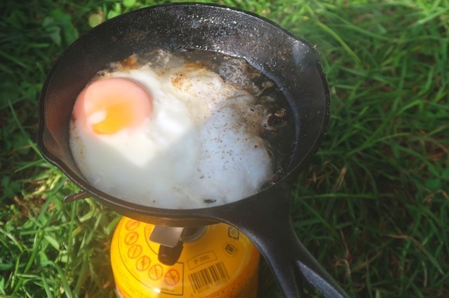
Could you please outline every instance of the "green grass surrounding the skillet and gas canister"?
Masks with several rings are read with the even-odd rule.
[[[114,297],[119,215],[94,199],[62,204],[76,187],[36,149],[36,106],[90,24],[154,2],[1,2],[1,297]],[[293,190],[304,245],[351,297],[449,297],[449,2],[217,3],[321,52],[333,111]],[[264,264],[260,276],[260,297],[279,296]]]

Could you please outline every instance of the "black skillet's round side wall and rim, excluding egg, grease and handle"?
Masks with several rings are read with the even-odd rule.
[[[276,24],[256,15],[222,6],[181,4],[136,10],[93,28],[58,59],[41,93],[38,146],[53,164],[79,185],[86,195],[99,198],[114,210],[136,220],[163,225],[215,222],[228,206],[170,210],[140,206],[109,196],[81,175],[69,150],[69,120],[74,101],[94,74],[107,63],[135,52],[201,49],[246,59],[271,78],[288,98],[295,113],[297,142],[288,174],[314,155],[330,114],[329,92],[314,48]],[[263,193],[263,192],[262,192]],[[233,204],[249,208],[261,194]]]

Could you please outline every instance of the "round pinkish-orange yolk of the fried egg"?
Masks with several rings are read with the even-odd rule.
[[[84,118],[96,134],[133,129],[152,113],[152,96],[127,78],[103,78],[88,85],[74,106],[75,118]]]

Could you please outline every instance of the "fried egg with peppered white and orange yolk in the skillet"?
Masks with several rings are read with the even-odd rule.
[[[249,197],[273,166],[267,111],[206,68],[147,64],[112,71],[76,99],[70,148],[102,192],[157,208],[203,208]]]

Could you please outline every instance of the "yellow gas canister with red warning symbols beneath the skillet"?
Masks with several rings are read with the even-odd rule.
[[[122,297],[256,297],[259,251],[239,230],[220,223],[186,241],[175,264],[159,262],[154,225],[123,217],[111,244]]]

